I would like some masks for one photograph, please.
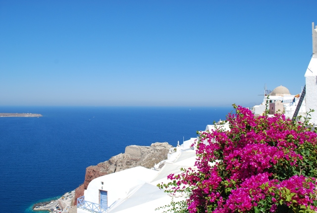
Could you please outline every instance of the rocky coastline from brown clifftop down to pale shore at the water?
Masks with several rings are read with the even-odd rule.
[[[123,154],[120,153],[97,165],[88,166],[86,168],[84,183],[74,191],[65,193],[57,200],[34,204],[33,210],[76,213],[77,198],[84,195],[84,191],[93,179],[136,166],[153,168],[155,164],[167,159],[167,154],[171,147],[173,146],[167,142],[156,142],[151,144],[151,146],[127,146]]]

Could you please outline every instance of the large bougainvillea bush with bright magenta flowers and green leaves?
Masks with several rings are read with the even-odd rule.
[[[305,119],[254,116],[242,106],[227,115],[230,131],[200,132],[194,168],[170,174],[165,192],[187,195],[165,206],[177,213],[306,213],[317,211],[317,134]]]

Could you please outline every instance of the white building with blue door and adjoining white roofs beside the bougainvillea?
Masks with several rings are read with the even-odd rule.
[[[160,213],[156,208],[185,199],[171,196],[157,187],[167,183],[167,175],[180,173],[180,168],[194,168],[196,151],[191,147],[196,138],[170,148],[168,159],[153,169],[134,167],[92,180],[84,196],[78,199],[77,213]],[[159,165],[164,165],[159,169]]]

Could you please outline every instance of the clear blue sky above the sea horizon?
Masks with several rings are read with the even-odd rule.
[[[0,106],[250,106],[298,94],[316,0],[0,0]]]

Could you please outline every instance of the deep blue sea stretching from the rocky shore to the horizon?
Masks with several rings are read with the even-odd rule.
[[[84,182],[86,167],[124,153],[129,145],[176,146],[232,107],[0,106],[0,212],[31,213]],[[40,212],[37,212],[40,213]]]

